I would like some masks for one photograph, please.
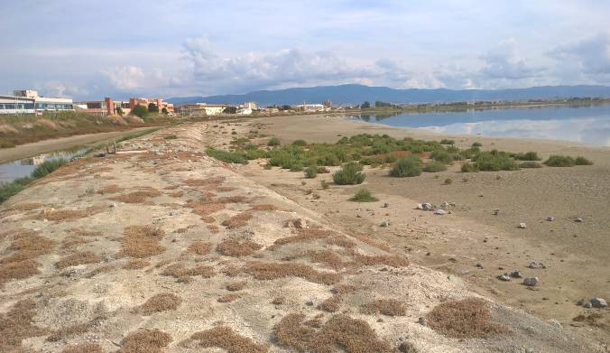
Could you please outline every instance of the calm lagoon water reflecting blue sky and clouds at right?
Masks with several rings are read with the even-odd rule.
[[[359,121],[430,129],[444,135],[543,138],[610,146],[610,105],[353,116]]]

